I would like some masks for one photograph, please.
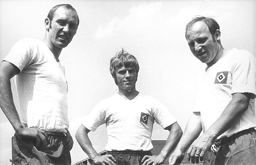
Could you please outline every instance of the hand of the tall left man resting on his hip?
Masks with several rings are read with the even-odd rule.
[[[35,127],[27,128],[24,127],[18,131],[20,137],[32,138],[36,141],[36,148],[39,148],[41,145],[42,149],[46,149],[48,145],[48,136],[47,134],[40,129]]]

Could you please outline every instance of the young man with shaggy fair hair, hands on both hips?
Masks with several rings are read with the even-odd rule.
[[[111,59],[110,72],[119,92],[93,108],[76,132],[77,141],[95,164],[162,164],[180,140],[179,124],[163,104],[136,90],[139,64],[134,56],[120,51]],[[157,156],[150,151],[154,121],[170,131]],[[108,133],[107,154],[99,156],[87,134],[104,123]]]

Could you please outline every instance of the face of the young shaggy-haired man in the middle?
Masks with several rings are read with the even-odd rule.
[[[120,90],[135,89],[137,73],[135,67],[118,67],[116,68],[116,84]]]

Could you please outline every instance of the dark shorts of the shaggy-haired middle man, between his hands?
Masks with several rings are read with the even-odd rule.
[[[113,155],[116,165],[142,165],[141,159],[145,155],[152,155],[151,151],[108,151]]]

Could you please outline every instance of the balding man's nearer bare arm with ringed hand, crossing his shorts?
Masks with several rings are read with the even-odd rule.
[[[227,131],[232,123],[248,109],[250,93],[235,93],[232,100],[221,116],[207,129],[207,131],[195,140],[187,151],[187,160],[191,158],[192,162],[198,163],[198,159],[203,160],[205,152],[211,147],[216,138]]]

